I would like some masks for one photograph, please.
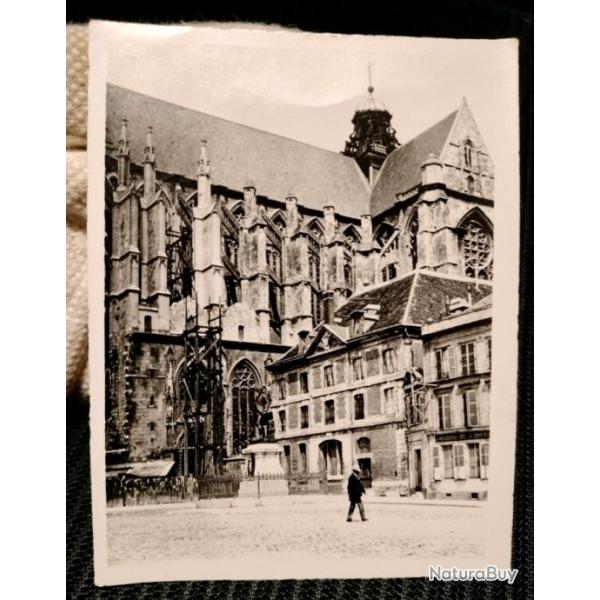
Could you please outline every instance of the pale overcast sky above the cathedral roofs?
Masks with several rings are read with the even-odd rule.
[[[343,149],[367,96],[369,62],[401,143],[463,96],[496,165],[516,134],[511,40],[127,25],[111,26],[107,41],[112,83],[330,150]]]

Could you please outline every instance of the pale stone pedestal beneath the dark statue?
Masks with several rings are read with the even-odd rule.
[[[253,479],[240,483],[239,496],[287,496],[288,482],[281,466],[279,444],[250,444],[242,450],[246,473]]]

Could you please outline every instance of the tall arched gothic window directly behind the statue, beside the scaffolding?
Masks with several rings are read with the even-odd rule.
[[[258,379],[248,361],[231,376],[233,453],[239,454],[258,435]]]

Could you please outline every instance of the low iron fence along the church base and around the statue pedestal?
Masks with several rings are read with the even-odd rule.
[[[289,475],[215,475],[210,477],[111,477],[106,480],[108,506],[139,506],[217,498],[260,498],[327,494],[325,473]]]

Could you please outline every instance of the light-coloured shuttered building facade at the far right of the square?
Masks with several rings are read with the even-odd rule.
[[[410,489],[429,498],[487,497],[491,390],[491,295],[469,306],[455,299],[450,315],[426,324],[424,410],[410,410]],[[412,394],[411,394],[412,392]]]

